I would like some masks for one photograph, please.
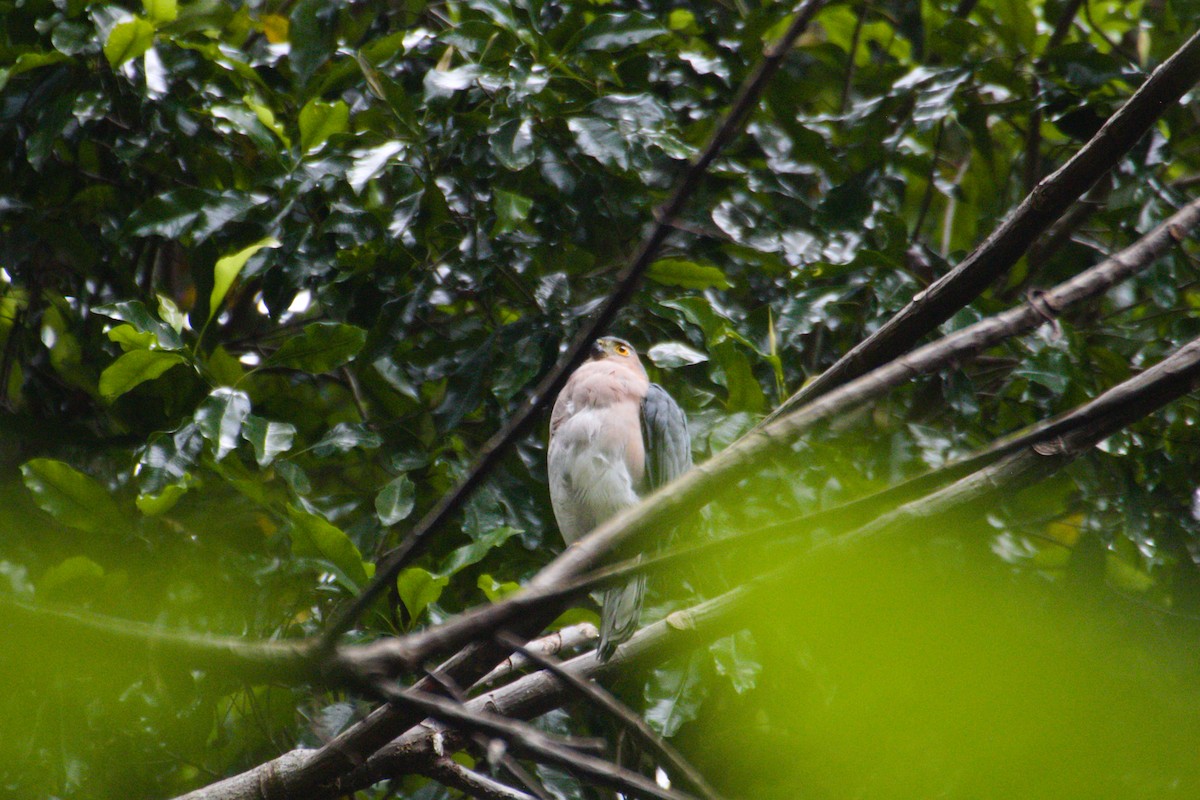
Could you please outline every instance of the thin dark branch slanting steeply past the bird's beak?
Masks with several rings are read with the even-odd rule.
[[[454,491],[443,495],[404,540],[379,561],[372,582],[330,621],[323,638],[326,649],[332,649],[334,643],[342,633],[353,627],[359,616],[388,590],[401,569],[425,546],[430,534],[440,528],[451,515],[462,507],[472,492],[499,463],[500,456],[508,446],[524,435],[533,426],[538,411],[558,393],[571,371],[583,362],[592,342],[612,324],[620,308],[634,296],[642,273],[649,267],[655,253],[672,229],[670,223],[683,211],[688,199],[700,186],[708,167],[742,130],[745,119],[757,106],[760,94],[822,5],[823,0],[805,0],[800,4],[787,31],[776,43],[766,49],[754,72],[738,90],[725,120],[714,131],[700,157],[684,172],[670,199],[655,213],[658,222],[638,247],[629,266],[618,276],[612,294],[576,333],[558,366],[539,381],[512,417],[482,446],[479,458],[467,477]]]

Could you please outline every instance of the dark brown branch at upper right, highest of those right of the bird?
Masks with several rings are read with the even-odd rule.
[[[911,349],[1018,261],[1039,233],[1111,170],[1200,79],[1200,32],[1164,61],[1092,139],[1045,178],[988,239],[896,315],[767,417],[767,422]]]

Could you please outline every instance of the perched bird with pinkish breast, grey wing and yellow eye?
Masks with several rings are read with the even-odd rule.
[[[550,419],[547,477],[566,545],[691,467],[688,416],[650,383],[634,347],[616,337],[592,345],[566,380]],[[607,589],[598,654],[607,661],[637,628],[646,577]]]

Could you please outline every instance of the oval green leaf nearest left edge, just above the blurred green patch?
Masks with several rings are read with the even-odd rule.
[[[34,458],[20,465],[20,474],[37,507],[59,522],[89,534],[125,530],[125,515],[108,489],[70,464]]]

